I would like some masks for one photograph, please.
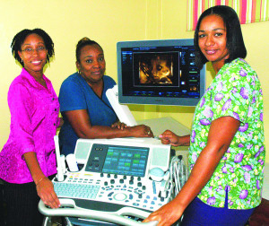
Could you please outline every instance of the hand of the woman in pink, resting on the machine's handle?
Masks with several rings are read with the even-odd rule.
[[[51,208],[58,208],[60,201],[56,196],[52,182],[49,178],[41,178],[36,185],[38,196],[44,204],[48,204]]]

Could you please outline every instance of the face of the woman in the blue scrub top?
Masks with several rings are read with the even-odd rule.
[[[76,62],[78,70],[87,83],[98,83],[106,71],[106,61],[102,49],[94,44],[81,49],[80,61]]]

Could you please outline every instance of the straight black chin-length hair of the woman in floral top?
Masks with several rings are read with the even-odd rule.
[[[208,8],[200,15],[195,28],[195,64],[199,69],[201,69],[208,60],[204,57],[204,54],[199,48],[198,32],[204,17],[213,14],[220,16],[226,27],[226,47],[229,52],[229,58],[225,60],[225,64],[230,63],[238,57],[247,57],[247,49],[244,44],[238,14],[229,6],[216,5]]]

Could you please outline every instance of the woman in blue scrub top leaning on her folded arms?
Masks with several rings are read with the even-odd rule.
[[[125,126],[117,121],[106,91],[116,84],[104,75],[106,61],[100,45],[88,38],[76,46],[78,73],[65,79],[59,94],[64,125],[59,133],[61,152],[74,152],[78,138],[152,137],[148,126]]]

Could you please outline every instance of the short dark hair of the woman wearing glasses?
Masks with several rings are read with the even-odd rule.
[[[14,36],[11,44],[13,57],[23,66],[23,61],[18,51],[22,51],[22,44],[30,34],[37,34],[44,40],[45,47],[48,51],[47,60],[49,62],[49,58],[54,56],[54,43],[45,30],[38,28],[33,30],[24,29]]]

